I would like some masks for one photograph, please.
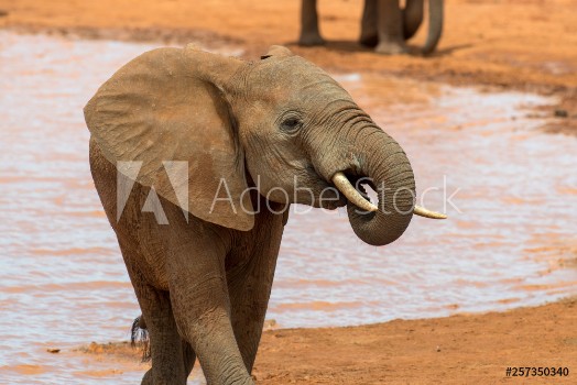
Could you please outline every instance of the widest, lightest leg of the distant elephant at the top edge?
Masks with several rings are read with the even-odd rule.
[[[379,0],[378,9],[379,45],[374,51],[388,55],[406,53],[399,0]]]

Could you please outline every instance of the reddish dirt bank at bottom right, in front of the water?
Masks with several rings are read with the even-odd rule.
[[[508,312],[269,330],[253,374],[257,383],[266,385],[574,384],[576,322],[577,300],[567,299]],[[80,351],[111,363],[140,359],[127,343],[91,344]],[[509,366],[568,367],[569,376],[514,378],[507,376]],[[200,375],[196,371],[194,378]]]

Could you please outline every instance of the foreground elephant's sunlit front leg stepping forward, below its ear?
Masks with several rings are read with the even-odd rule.
[[[221,238],[207,228],[186,234],[186,224],[172,223],[177,237],[170,240],[166,271],[178,331],[196,352],[209,385],[252,384],[230,321]]]

